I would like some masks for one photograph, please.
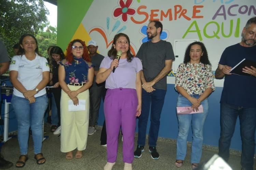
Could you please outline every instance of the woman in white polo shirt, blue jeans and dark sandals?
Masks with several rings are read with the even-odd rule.
[[[14,86],[12,105],[18,122],[20,148],[16,167],[22,168],[28,160],[28,137],[31,127],[34,142],[34,158],[37,164],[44,164],[41,153],[43,139],[43,118],[47,107],[45,86],[49,82],[49,65],[38,52],[37,39],[25,34],[19,40],[18,55],[10,64],[10,79]]]

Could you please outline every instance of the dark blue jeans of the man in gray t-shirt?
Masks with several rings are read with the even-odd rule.
[[[158,131],[160,126],[160,115],[162,112],[163,102],[165,101],[166,90],[156,89],[153,92],[146,92],[142,89],[142,109],[141,115],[139,116],[138,122],[138,142],[140,146],[145,146],[147,120],[150,112],[151,104],[151,115],[150,115],[150,131],[148,135],[148,145],[151,147],[156,146],[158,138]]]

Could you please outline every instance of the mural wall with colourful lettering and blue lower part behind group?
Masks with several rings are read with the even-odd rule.
[[[177,92],[173,84],[175,69],[183,61],[186,43],[199,40],[205,44],[214,72],[224,49],[241,41],[246,21],[255,15],[255,0],[61,0],[58,1],[57,44],[65,50],[72,39],[79,38],[86,43],[93,39],[99,46],[98,52],[106,56],[114,35],[123,32],[129,36],[132,53],[136,54],[141,44],[148,41],[146,26],[149,20],[160,20],[163,24],[161,39],[172,44],[178,57],[167,78],[159,136],[175,139]],[[218,145],[219,99],[223,82],[214,80],[217,88],[209,98],[213,107],[210,107],[205,123],[204,143],[207,145]],[[102,106],[101,111],[103,117]],[[101,117],[99,124],[104,120]],[[239,126],[231,148],[241,150]]]

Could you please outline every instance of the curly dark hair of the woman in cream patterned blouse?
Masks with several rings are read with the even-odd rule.
[[[207,50],[206,50],[204,44],[202,42],[199,42],[199,41],[195,41],[195,42],[188,45],[188,47],[186,49],[186,52],[185,52],[183,63],[185,63],[187,65],[187,63],[190,62],[189,52],[190,52],[191,46],[193,46],[193,45],[199,45],[202,49],[203,55],[200,58],[200,62],[203,63],[204,65],[208,64],[208,65],[211,66],[211,63],[210,63],[209,58],[208,58]]]

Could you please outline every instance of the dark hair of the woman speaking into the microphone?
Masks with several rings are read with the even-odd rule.
[[[124,33],[119,33],[119,34],[116,34],[115,37],[114,37],[114,40],[113,40],[113,44],[112,44],[112,47],[111,49],[108,51],[108,56],[112,59],[112,60],[115,60],[115,57],[116,57],[116,49],[114,48],[114,45],[116,44],[116,41],[119,37],[125,37],[127,40],[128,40],[128,43],[129,43],[129,48],[128,48],[128,51],[127,51],[127,62],[131,62],[132,58],[133,58],[133,55],[131,53],[131,50],[130,50],[130,39],[128,37],[128,35],[124,34]]]

